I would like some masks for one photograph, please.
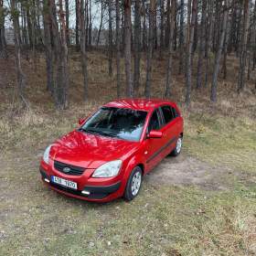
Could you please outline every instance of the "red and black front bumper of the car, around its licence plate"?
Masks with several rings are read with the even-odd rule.
[[[73,178],[71,176],[63,176],[61,173],[55,171],[52,167],[46,166],[45,163],[41,163],[39,171],[42,180],[48,185],[48,187],[69,197],[75,197],[87,201],[108,202],[112,199],[123,196],[123,186],[121,180],[110,181],[108,179],[106,182],[101,180],[99,185],[96,185],[95,182],[91,184],[87,180],[85,181],[84,176],[76,176]],[[59,176],[68,180],[75,181],[79,184],[78,189],[74,190],[69,187],[63,187],[59,184],[55,184],[51,182],[51,176]]]

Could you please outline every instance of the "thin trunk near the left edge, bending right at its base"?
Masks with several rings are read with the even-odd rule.
[[[25,107],[28,103],[24,97],[24,88],[26,83],[25,74],[21,67],[21,56],[20,56],[20,38],[18,31],[19,15],[16,9],[16,0],[11,0],[11,16],[14,26],[14,39],[15,39],[15,57],[16,57],[16,77],[17,77],[17,91],[20,100],[24,103]]]

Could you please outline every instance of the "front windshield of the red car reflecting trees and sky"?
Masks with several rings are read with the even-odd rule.
[[[139,141],[147,112],[103,107],[80,128],[128,141]]]

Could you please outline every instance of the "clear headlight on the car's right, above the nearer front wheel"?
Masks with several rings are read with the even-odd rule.
[[[121,168],[122,161],[121,160],[115,160],[112,162],[108,162],[104,165],[101,165],[99,168],[97,168],[94,173],[93,177],[111,177],[111,176],[117,176],[119,173],[119,170]]]

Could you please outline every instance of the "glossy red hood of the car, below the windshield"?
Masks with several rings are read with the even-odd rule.
[[[138,145],[137,142],[73,131],[52,145],[50,158],[69,165],[98,168],[109,161],[124,160]]]

